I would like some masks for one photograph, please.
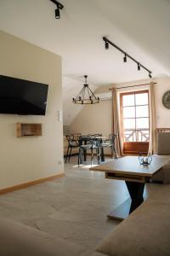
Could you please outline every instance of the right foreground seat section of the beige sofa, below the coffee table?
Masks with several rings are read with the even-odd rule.
[[[169,256],[170,207],[145,201],[101,242],[110,256]]]

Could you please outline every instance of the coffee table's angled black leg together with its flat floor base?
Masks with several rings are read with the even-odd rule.
[[[127,218],[144,201],[144,183],[125,181],[130,198],[108,214],[108,218],[122,220]],[[131,200],[130,200],[131,199]]]

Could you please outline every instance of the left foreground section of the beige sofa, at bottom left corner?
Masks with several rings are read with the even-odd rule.
[[[102,256],[9,219],[0,219],[1,256]]]

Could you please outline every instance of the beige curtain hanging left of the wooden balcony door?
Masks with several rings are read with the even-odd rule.
[[[118,115],[118,106],[117,106],[117,93],[116,88],[112,88],[112,130],[113,134],[116,134],[116,155],[121,157],[122,153],[122,137],[120,131],[120,121]]]

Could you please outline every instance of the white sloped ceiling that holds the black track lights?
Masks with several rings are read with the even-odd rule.
[[[68,118],[67,109],[77,112],[71,101],[68,105],[69,87],[74,84],[78,92],[84,74],[98,87],[148,78],[132,61],[123,63],[116,49],[106,51],[103,36],[148,67],[154,77],[170,75],[169,0],[60,2],[65,8],[56,20],[55,5],[49,0],[0,0],[0,28],[62,56],[65,123],[75,117]]]

